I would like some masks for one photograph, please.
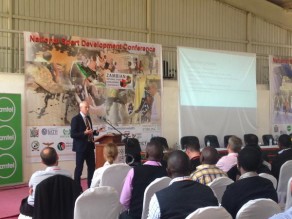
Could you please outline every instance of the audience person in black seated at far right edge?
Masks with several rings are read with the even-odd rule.
[[[279,179],[280,168],[288,160],[292,160],[291,137],[287,134],[280,135],[278,139],[280,151],[272,162],[272,174]]]

